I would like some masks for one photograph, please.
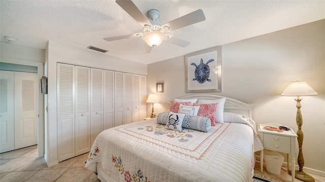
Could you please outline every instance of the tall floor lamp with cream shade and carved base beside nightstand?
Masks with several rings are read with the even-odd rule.
[[[309,174],[305,173],[303,171],[303,167],[305,165],[304,156],[303,156],[303,140],[304,140],[304,133],[301,130],[303,125],[303,117],[301,115],[300,111],[300,101],[302,99],[299,98],[299,96],[309,96],[309,95],[317,95],[317,92],[315,92],[305,81],[294,81],[291,82],[286,89],[281,94],[282,96],[297,96],[297,116],[296,116],[296,123],[298,125],[298,145],[299,145],[299,154],[298,154],[298,165],[299,170],[296,170],[295,178],[302,180],[302,181],[315,181],[315,179],[310,176]],[[295,164],[292,164],[295,165]],[[288,169],[289,171],[290,169]],[[291,172],[289,172],[290,174]]]

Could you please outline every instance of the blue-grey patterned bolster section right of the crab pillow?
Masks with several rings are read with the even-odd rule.
[[[182,127],[187,129],[209,132],[211,129],[211,120],[210,118],[203,116],[186,115],[183,120]]]

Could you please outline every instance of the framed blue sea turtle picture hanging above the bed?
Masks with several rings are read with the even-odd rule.
[[[221,47],[185,55],[185,92],[221,92]]]

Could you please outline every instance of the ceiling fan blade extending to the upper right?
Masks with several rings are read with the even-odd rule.
[[[194,23],[204,21],[204,20],[205,20],[204,13],[201,9],[199,9],[197,11],[194,11],[192,13],[189,13],[187,15],[179,17],[173,21],[170,21],[170,22],[164,24],[162,27],[169,26],[170,31],[173,31],[178,28],[182,28],[182,27],[194,24]]]

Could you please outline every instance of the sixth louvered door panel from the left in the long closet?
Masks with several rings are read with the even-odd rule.
[[[132,123],[133,118],[133,84],[132,84],[132,74],[124,74],[124,123]]]

